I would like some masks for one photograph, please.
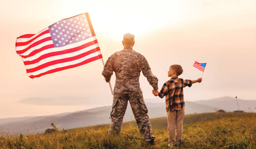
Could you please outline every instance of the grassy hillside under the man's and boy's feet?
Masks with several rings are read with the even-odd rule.
[[[212,115],[211,115],[212,114]],[[207,113],[191,114],[184,119],[183,143],[174,148],[256,148],[255,113]],[[203,117],[203,118],[200,118]],[[208,121],[209,120],[209,121]],[[155,145],[147,145],[133,122],[125,123],[119,136],[108,135],[106,125],[70,129],[55,134],[35,134],[1,136],[0,148],[37,148],[37,149],[167,149],[168,134],[162,123],[166,118],[151,119]],[[165,123],[166,124],[166,123]]]

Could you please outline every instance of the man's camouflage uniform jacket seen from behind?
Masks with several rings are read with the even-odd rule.
[[[141,71],[154,90],[158,89],[158,79],[152,74],[146,58],[131,47],[125,47],[108,58],[102,71],[107,82],[113,75],[113,71],[116,77],[114,94],[142,93],[139,83]]]

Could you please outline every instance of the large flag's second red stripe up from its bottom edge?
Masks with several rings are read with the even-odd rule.
[[[59,60],[53,60],[51,62],[46,62],[42,65],[37,66],[37,67],[27,69],[27,73],[36,72],[36,71],[41,70],[45,67],[49,67],[51,65],[56,65],[56,64],[59,64],[59,63],[63,63],[63,62],[70,62],[70,61],[73,61],[73,60],[77,60],[77,59],[80,59],[82,57],[85,57],[85,56],[90,55],[90,54],[95,53],[95,52],[97,52],[96,48],[92,49],[90,51],[84,52],[82,54],[73,56],[73,57],[67,57],[67,58],[63,58],[63,59],[59,59]]]

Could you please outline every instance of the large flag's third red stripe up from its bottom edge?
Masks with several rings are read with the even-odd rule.
[[[86,44],[81,45],[79,47],[74,47],[74,48],[66,49],[66,50],[62,50],[62,51],[50,52],[50,53],[47,53],[47,54],[44,54],[44,55],[38,57],[35,60],[24,61],[24,64],[25,65],[35,64],[35,63],[37,63],[41,60],[44,60],[45,58],[56,56],[56,55],[63,55],[63,54],[67,54],[67,53],[76,52],[76,51],[79,51],[81,49],[84,49],[84,48],[89,47],[89,46],[94,45],[94,44],[95,44],[95,41],[91,41],[91,42],[87,42]],[[39,52],[41,52],[41,51],[39,51]]]

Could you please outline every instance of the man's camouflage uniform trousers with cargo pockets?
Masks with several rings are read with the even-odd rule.
[[[125,114],[128,100],[131,104],[133,115],[144,141],[155,139],[152,135],[151,123],[148,117],[148,109],[141,93],[138,94],[114,94],[109,133],[119,134],[123,116]]]

